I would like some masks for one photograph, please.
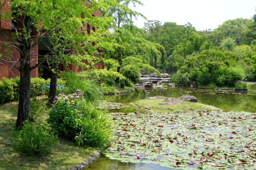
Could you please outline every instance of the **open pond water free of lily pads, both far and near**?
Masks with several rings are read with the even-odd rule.
[[[246,111],[256,113],[256,92],[248,93],[236,93],[228,90],[201,90],[188,87],[170,88],[170,87],[158,87],[153,88],[150,91],[145,89],[136,89],[135,93],[122,94],[114,96],[104,96],[102,100],[108,102],[118,102],[129,105],[136,100],[146,99],[152,96],[166,96],[178,98],[184,95],[195,96],[202,104],[208,104],[222,109],[223,111]],[[123,109],[112,109],[108,112],[116,113],[132,113],[134,111],[144,112],[142,109],[138,109],[134,106],[126,107]],[[112,160],[105,156],[101,156],[96,162],[88,166],[88,170],[169,170],[153,163],[127,163],[118,160]],[[177,169],[177,168],[176,168]]]

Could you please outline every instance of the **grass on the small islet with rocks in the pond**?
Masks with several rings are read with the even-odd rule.
[[[218,110],[218,108],[206,104],[194,103],[194,102],[184,102],[182,104],[176,105],[159,105],[158,103],[163,102],[164,99],[144,99],[138,100],[135,103],[142,107],[148,107],[150,110],[156,113],[170,113],[173,111],[197,111],[197,110]]]

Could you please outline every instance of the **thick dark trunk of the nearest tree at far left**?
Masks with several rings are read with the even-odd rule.
[[[23,126],[23,121],[29,118],[30,112],[30,63],[24,63],[20,69],[20,97],[18,106],[18,117],[16,121],[16,128]]]

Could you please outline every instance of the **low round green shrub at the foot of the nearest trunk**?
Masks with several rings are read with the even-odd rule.
[[[44,122],[23,122],[20,131],[14,133],[17,148],[30,156],[45,156],[52,147],[58,143],[58,137],[50,132],[50,128]]]

